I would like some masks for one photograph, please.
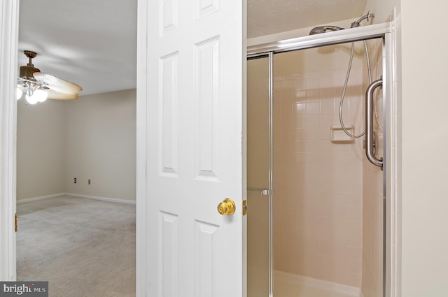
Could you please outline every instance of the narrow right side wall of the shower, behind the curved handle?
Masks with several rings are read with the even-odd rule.
[[[382,40],[369,41],[372,77],[382,73]],[[365,87],[369,84],[364,78]],[[374,93],[374,131],[377,133],[377,158],[383,157],[384,131],[382,91]],[[383,172],[377,166],[363,159],[363,294],[364,297],[382,296],[383,284]]]

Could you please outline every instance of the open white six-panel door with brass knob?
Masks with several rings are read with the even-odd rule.
[[[245,5],[148,1],[146,296],[244,296]]]

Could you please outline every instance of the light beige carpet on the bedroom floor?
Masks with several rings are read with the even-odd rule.
[[[18,280],[50,297],[135,296],[135,205],[61,196],[18,204]]]

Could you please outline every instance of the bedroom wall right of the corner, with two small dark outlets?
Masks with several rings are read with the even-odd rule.
[[[136,90],[82,96],[66,108],[66,191],[135,200]]]

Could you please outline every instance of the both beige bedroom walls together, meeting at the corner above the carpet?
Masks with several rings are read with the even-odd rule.
[[[135,143],[135,89],[35,106],[21,99],[18,200],[64,192],[135,200]]]

